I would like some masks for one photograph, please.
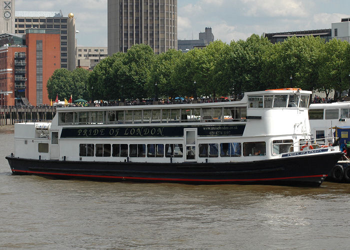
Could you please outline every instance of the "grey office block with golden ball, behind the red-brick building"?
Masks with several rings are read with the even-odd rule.
[[[51,11],[15,11],[14,33],[25,34],[28,28],[54,29],[60,33],[60,67],[75,68],[75,19]]]

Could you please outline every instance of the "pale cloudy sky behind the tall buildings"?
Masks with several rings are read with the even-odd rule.
[[[77,44],[107,46],[107,0],[15,0],[15,10],[74,13]],[[177,0],[177,38],[211,27],[229,43],[251,34],[331,28],[350,17],[349,0]]]

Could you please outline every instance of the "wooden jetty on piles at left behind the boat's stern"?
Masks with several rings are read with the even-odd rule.
[[[52,120],[55,106],[0,106],[0,125]]]

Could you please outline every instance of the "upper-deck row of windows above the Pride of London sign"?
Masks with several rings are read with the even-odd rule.
[[[232,121],[245,118],[245,107],[163,108],[59,112],[58,124],[125,124]]]

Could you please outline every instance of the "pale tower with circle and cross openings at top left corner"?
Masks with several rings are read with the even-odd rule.
[[[14,30],[14,0],[3,1],[0,8],[0,34],[13,33]]]

